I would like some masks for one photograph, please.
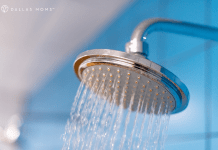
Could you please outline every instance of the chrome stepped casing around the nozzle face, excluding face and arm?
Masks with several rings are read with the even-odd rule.
[[[189,92],[187,87],[173,73],[141,55],[109,49],[89,50],[77,57],[74,63],[74,70],[77,77],[82,80],[83,72],[86,68],[103,65],[132,71],[146,77],[153,85],[163,87],[175,100],[175,107],[171,113],[178,113],[188,105]]]

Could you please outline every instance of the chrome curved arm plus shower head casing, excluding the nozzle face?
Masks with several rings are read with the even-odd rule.
[[[108,49],[86,51],[80,54],[74,63],[75,73],[81,80],[84,70],[89,67],[110,66],[113,71],[122,68],[123,72],[126,70],[134,72],[135,76],[137,74],[143,76],[143,80],[151,81],[153,86],[160,85],[172,95],[175,105],[171,113],[184,110],[189,102],[187,87],[173,73],[146,59],[148,44],[143,40],[154,31],[218,41],[218,28],[215,27],[162,18],[149,19],[140,23],[134,30],[130,42],[126,44],[126,53]],[[144,38],[143,35],[145,35]]]

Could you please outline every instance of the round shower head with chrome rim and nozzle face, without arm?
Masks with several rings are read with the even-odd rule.
[[[115,50],[89,50],[81,53],[74,70],[82,82],[110,95],[107,98],[132,111],[157,114],[169,107],[178,113],[188,105],[186,86],[165,68],[145,59]],[[160,106],[165,107],[160,107]],[[155,108],[152,110],[152,108]]]

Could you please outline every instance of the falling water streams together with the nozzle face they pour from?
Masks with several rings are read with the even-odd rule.
[[[169,93],[138,74],[114,68],[84,71],[62,150],[164,149],[172,110]]]

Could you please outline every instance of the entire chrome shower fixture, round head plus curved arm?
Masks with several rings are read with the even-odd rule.
[[[74,62],[77,77],[86,82],[87,76],[91,76],[90,84],[94,84],[91,83],[94,76],[95,82],[106,82],[107,87],[103,84],[100,88],[112,95],[109,101],[115,100],[123,108],[148,113],[155,108],[153,112],[158,113],[164,110],[156,106],[165,105],[171,114],[181,112],[189,102],[187,87],[173,73],[147,59],[148,44],[144,39],[154,31],[218,41],[218,28],[162,18],[148,19],[134,30],[126,52],[95,49],[81,53]]]

